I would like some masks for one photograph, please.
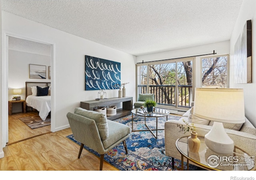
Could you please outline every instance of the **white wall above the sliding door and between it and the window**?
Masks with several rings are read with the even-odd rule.
[[[148,61],[155,61],[155,60],[166,60],[166,59],[172,59],[172,58],[182,58],[182,57],[188,57],[188,56],[197,56],[202,54],[211,54],[215,50],[216,55],[222,55],[222,54],[229,54],[229,41],[224,42],[218,42],[213,44],[206,44],[202,46],[194,46],[190,48],[183,48],[183,49],[177,49],[177,50],[171,50],[171,51],[165,51],[165,52],[158,52],[153,54],[147,54],[142,56],[137,56],[136,63],[142,62],[148,62]],[[210,55],[213,56],[213,55]],[[200,87],[200,58],[204,56],[197,56],[196,57],[196,77],[195,77],[195,87]]]

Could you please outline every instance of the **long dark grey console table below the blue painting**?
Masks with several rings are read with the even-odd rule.
[[[121,109],[116,110],[116,115],[108,116],[108,120],[114,120],[128,114],[131,114],[132,110],[132,97],[124,97],[124,98],[108,98],[108,100],[90,100],[90,101],[81,101],[80,107],[86,110],[93,110],[93,108],[98,106],[111,106],[113,104],[122,102],[123,106]]]

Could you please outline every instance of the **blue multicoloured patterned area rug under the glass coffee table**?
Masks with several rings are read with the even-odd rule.
[[[144,117],[133,117],[134,130],[146,129],[146,126],[144,125]],[[168,120],[170,119],[179,120],[180,117],[168,115]],[[131,133],[126,139],[128,154],[125,154],[123,143],[120,143],[118,146],[105,154],[104,160],[106,160],[112,166],[118,168],[119,170],[181,170],[180,160],[174,159],[174,169],[172,169],[172,158],[165,155],[164,130],[158,130],[158,136],[156,139],[150,131],[132,132],[131,114],[118,118],[114,121],[129,126]],[[158,129],[164,128],[164,122],[166,122],[166,117],[158,118]],[[147,118],[146,124],[150,128],[156,128],[156,118]],[[156,131],[153,132],[156,134]],[[80,145],[80,142],[77,142],[72,134],[67,136],[67,138]],[[100,154],[87,146],[84,146],[84,148],[100,157]],[[184,162],[184,170],[186,170],[186,162]],[[202,169],[190,164],[189,170]]]

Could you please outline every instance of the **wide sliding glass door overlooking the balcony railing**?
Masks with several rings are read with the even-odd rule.
[[[155,94],[158,105],[189,108],[192,102],[193,61],[166,60],[137,64],[137,95]]]

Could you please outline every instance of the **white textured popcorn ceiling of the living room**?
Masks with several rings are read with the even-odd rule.
[[[229,40],[242,0],[2,0],[2,10],[135,56]]]

